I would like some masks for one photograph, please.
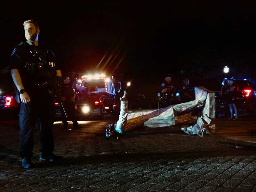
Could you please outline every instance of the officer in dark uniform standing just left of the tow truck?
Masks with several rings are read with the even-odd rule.
[[[65,76],[63,79],[63,85],[60,88],[62,95],[63,106],[67,110],[68,118],[73,122],[74,129],[81,129],[82,127],[78,125],[76,121],[76,105],[74,104],[76,94],[75,90],[71,84],[69,84],[69,76]],[[68,129],[68,118],[65,116],[63,109],[61,108],[61,118],[63,123],[63,128]]]

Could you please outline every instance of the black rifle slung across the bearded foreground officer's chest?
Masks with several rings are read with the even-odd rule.
[[[47,77],[48,80],[45,81],[44,83],[40,84],[39,87],[41,89],[44,89],[46,87],[52,86],[53,90],[50,90],[50,88],[49,88],[49,93],[55,94],[57,96],[57,101],[60,103],[60,106],[63,109],[65,116],[68,117],[67,112],[63,106],[62,95],[61,95],[60,87],[59,87],[59,85],[61,84],[61,77],[56,76],[56,74],[54,73],[54,70],[53,70],[53,66],[51,67],[50,63],[47,62],[44,52],[39,52],[35,48],[33,49],[33,51],[30,50],[30,52],[32,53],[32,55],[34,57],[38,57],[39,60],[44,64],[44,66],[48,67],[48,72],[45,73],[45,76]]]

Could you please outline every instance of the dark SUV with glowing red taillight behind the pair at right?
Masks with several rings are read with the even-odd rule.
[[[238,84],[236,107],[239,115],[256,115],[256,86],[248,79],[236,80]],[[223,103],[220,97],[220,91],[215,93],[216,117],[224,113]]]

